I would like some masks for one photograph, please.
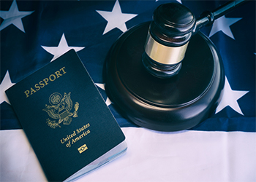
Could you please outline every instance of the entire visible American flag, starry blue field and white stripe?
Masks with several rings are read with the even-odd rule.
[[[192,129],[155,132],[124,118],[105,92],[108,50],[154,9],[182,3],[196,17],[225,1],[1,1],[0,181],[45,181],[4,90],[74,49],[127,137],[124,157],[80,181],[256,181],[255,1],[201,31],[219,50],[225,89],[214,114]],[[130,146],[130,147],[129,147]],[[18,151],[19,152],[18,152]]]

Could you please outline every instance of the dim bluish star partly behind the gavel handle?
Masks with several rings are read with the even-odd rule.
[[[222,31],[227,36],[230,36],[230,38],[235,39],[233,36],[232,31],[230,30],[230,25],[233,25],[238,20],[241,20],[242,18],[238,17],[219,17],[217,20],[214,21],[214,25],[212,25],[211,32],[209,34],[209,37],[213,36],[218,31]]]

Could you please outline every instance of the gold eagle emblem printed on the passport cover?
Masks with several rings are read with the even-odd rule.
[[[79,103],[75,103],[74,111],[71,112],[73,103],[70,94],[71,92],[68,94],[64,93],[62,97],[60,93],[54,92],[50,95],[50,105],[45,104],[45,108],[42,111],[47,112],[52,119],[58,119],[58,121],[56,122],[56,120],[50,120],[49,118],[46,119],[49,127],[55,129],[56,127],[61,127],[61,123],[69,125],[72,122],[72,117],[78,117]]]

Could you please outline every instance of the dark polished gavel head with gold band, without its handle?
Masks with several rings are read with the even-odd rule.
[[[178,74],[195,22],[195,15],[182,4],[162,4],[155,9],[143,53],[149,73],[159,78]]]

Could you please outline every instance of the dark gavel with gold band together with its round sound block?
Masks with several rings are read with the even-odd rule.
[[[211,116],[225,71],[217,48],[199,30],[243,3],[228,1],[197,20],[183,4],[162,4],[153,21],[123,33],[106,58],[113,106],[140,127],[160,131],[187,130]]]

